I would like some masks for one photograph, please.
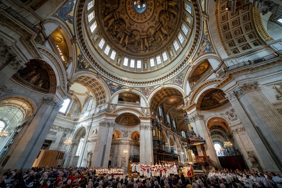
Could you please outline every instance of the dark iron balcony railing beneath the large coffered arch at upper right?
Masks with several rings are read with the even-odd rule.
[[[230,70],[234,70],[236,68],[240,68],[240,67],[243,67],[243,66],[246,66],[246,65],[261,63],[263,61],[267,61],[267,60],[276,58],[276,57],[278,57],[280,55],[282,55],[282,50],[275,51],[275,52],[273,52],[273,53],[271,53],[271,54],[269,54],[267,56],[263,56],[261,58],[257,58],[257,59],[254,59],[254,60],[243,61],[241,63],[235,64],[235,65],[231,65],[229,67],[224,68],[224,70],[225,71],[230,71]]]

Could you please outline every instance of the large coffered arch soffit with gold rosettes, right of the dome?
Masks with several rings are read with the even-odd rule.
[[[252,4],[231,14],[227,1],[216,1],[216,25],[221,45],[228,56],[253,51],[265,44],[254,23]]]

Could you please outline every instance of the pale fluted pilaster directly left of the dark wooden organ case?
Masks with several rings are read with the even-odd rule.
[[[153,162],[152,125],[140,125],[140,163]]]

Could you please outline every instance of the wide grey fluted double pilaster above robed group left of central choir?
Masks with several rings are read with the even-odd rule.
[[[99,126],[97,141],[92,155],[92,166],[108,167],[115,123],[102,121]]]

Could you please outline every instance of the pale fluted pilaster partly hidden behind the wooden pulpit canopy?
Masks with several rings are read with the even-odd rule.
[[[205,125],[205,122],[204,122],[204,115],[201,113],[195,113],[194,115],[189,116],[188,119],[189,119],[190,125],[196,128],[197,130],[197,132],[195,131],[196,134],[200,134],[203,137],[203,139],[205,140],[204,147],[205,147],[207,156],[209,156],[211,160],[219,163],[218,157],[216,155],[216,151],[214,149],[214,145],[212,143],[211,135],[209,134],[207,127]],[[197,147],[197,150],[198,150],[198,147]],[[198,152],[201,153],[201,151],[199,150]]]

